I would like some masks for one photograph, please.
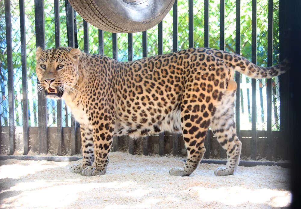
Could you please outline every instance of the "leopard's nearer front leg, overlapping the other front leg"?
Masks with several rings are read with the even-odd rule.
[[[111,117],[108,117],[112,119]],[[82,170],[83,176],[104,175],[109,163],[109,152],[112,145],[114,120],[93,122],[93,145],[95,160],[91,166]]]

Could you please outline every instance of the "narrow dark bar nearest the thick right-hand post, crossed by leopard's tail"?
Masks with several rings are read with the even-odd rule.
[[[273,50],[273,0],[268,0],[268,66],[272,66]],[[272,160],[272,79],[267,79],[267,156]]]

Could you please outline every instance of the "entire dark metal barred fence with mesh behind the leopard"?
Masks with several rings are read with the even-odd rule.
[[[188,47],[211,47],[241,54],[257,65],[271,66],[284,58],[281,53],[283,1],[176,0],[172,10],[156,27],[133,34],[98,30],[76,14],[67,0],[2,1],[1,153],[13,154],[17,150],[24,154],[29,150],[60,155],[80,152],[77,124],[64,101],[45,99],[43,92],[37,91],[37,46],[53,48],[69,45],[118,61],[131,61]],[[287,76],[251,80],[236,73],[235,79],[238,85],[235,104],[237,133],[243,141],[243,151],[246,150],[242,156],[286,159],[287,155],[281,148],[285,144],[287,130]],[[20,138],[16,134],[20,130],[18,126],[23,127],[20,131],[22,140],[16,139]],[[68,129],[66,136],[63,127]],[[30,133],[30,130],[33,131]],[[52,139],[49,133],[45,134],[47,132],[55,133],[56,139]],[[30,134],[37,139],[32,139],[34,137]],[[225,152],[213,138],[209,131],[205,140],[205,158],[224,158]],[[53,140],[55,151],[50,149]],[[139,153],[140,147],[143,154],[185,154],[185,149],[181,151],[184,146],[181,136],[168,133],[146,137],[141,140],[141,145],[127,137],[113,141],[113,150],[129,149],[132,154]]]

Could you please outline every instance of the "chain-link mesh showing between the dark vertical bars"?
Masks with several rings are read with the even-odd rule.
[[[225,50],[235,52],[235,0],[225,0]],[[0,6],[4,8],[4,1]],[[45,12],[45,45],[46,48],[55,47],[54,37],[54,4],[44,1]],[[61,45],[67,45],[66,8],[65,1],[59,1],[60,7],[60,33]],[[188,0],[178,1],[178,50],[188,48]],[[76,13],[75,13],[76,14]],[[240,1],[240,50],[241,55],[251,60],[251,23],[252,2]],[[29,126],[38,126],[37,111],[37,84],[35,75],[35,12],[34,1],[25,0],[25,29],[26,29],[26,53],[27,53],[27,81],[28,81],[28,114]],[[209,0],[209,47],[220,48],[220,5],[219,1]],[[194,23],[194,46],[204,47],[204,1],[193,1]],[[5,12],[0,11],[0,122],[1,126],[8,126],[8,88],[7,88],[7,61],[6,61],[6,37],[5,37]],[[268,28],[268,1],[257,0],[257,63],[267,66],[267,28]],[[21,49],[20,49],[20,8],[19,2],[11,1],[12,21],[12,48],[14,67],[14,114],[15,126],[23,125],[22,117],[22,72],[21,72]],[[75,15],[76,43],[77,47],[84,50],[83,19]],[[173,8],[162,21],[163,28],[163,53],[173,50]],[[88,53],[98,53],[99,30],[88,24]],[[103,33],[104,55],[113,56],[112,33]],[[118,61],[128,61],[128,34],[117,34]],[[158,26],[147,30],[147,56],[158,54]],[[279,61],[279,0],[274,0],[273,14],[273,64]],[[143,57],[142,32],[133,34],[133,60]],[[240,129],[251,129],[251,80],[240,75]],[[256,82],[256,109],[257,129],[266,130],[266,80]],[[278,77],[272,80],[272,130],[280,129],[280,96]],[[63,126],[71,126],[70,109],[62,102]],[[57,126],[57,102],[47,99],[48,126]]]

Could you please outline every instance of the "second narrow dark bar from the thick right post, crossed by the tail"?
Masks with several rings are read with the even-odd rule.
[[[257,1],[252,0],[252,62],[256,64],[256,22],[257,22]],[[257,154],[257,132],[256,132],[256,80],[252,79],[252,141],[251,141],[251,158],[256,160]]]

